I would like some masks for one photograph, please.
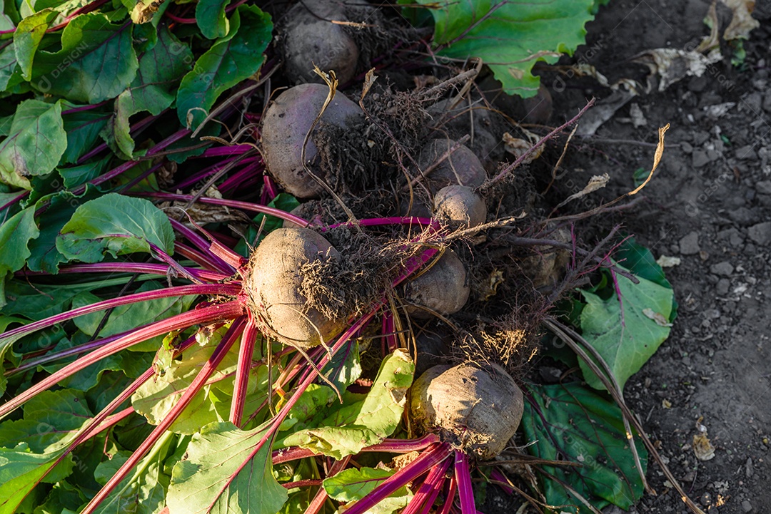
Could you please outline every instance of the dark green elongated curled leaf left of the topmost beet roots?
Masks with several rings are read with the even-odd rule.
[[[177,115],[183,125],[197,128],[219,96],[257,73],[273,33],[271,16],[256,5],[241,5],[231,28],[196,61],[177,92]]]

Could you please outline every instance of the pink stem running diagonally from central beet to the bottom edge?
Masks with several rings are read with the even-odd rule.
[[[129,474],[133,467],[136,466],[138,462],[140,462],[140,459],[142,459],[146,453],[150,451],[150,448],[152,448],[157,440],[160,439],[160,436],[163,436],[163,432],[167,431],[167,429],[177,419],[180,413],[185,409],[185,407],[187,407],[190,401],[192,401],[197,392],[204,386],[207,379],[209,379],[211,374],[214,373],[214,370],[217,369],[217,366],[220,365],[222,359],[224,359],[225,355],[227,355],[228,350],[231,349],[233,343],[236,341],[236,339],[238,339],[238,335],[240,334],[243,326],[244,317],[241,316],[236,319],[233,322],[233,325],[231,325],[231,328],[227,330],[227,333],[225,334],[220,344],[218,344],[217,348],[214,349],[214,353],[211,354],[209,360],[207,360],[207,362],[200,369],[200,372],[198,372],[196,377],[193,379],[193,382],[190,382],[190,386],[188,386],[187,390],[183,392],[179,401],[174,404],[167,416],[164,416],[163,421],[161,421],[158,426],[153,429],[153,432],[150,432],[150,436],[147,436],[142,444],[140,444],[139,448],[134,450],[129,459],[123,463],[123,466],[120,466],[120,469],[116,471],[115,475],[110,477],[104,487],[99,489],[99,492],[96,493],[96,496],[94,496],[88,505],[86,505],[86,507],[81,511],[81,514],[90,514],[91,512],[94,512],[96,507],[106,499],[109,493],[112,492],[113,489],[115,489],[116,486],[121,482],[121,480],[123,480]]]

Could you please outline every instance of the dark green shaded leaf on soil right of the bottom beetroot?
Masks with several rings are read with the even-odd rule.
[[[613,503],[629,509],[640,499],[642,481],[621,418],[621,409],[577,383],[531,386],[534,402],[525,402],[522,429],[527,447],[540,459],[564,459],[581,467],[541,466],[589,499],[597,509]],[[635,439],[643,471],[648,452]],[[584,512],[581,502],[556,480],[543,476],[546,503],[556,512]],[[548,511],[552,512],[552,511]]]

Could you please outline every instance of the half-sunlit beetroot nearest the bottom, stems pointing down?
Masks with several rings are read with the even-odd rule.
[[[522,419],[524,399],[499,365],[437,365],[412,384],[412,417],[469,455],[493,459],[506,449]]]

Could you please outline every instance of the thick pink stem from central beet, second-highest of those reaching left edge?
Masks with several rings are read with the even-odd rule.
[[[172,316],[171,318],[163,319],[160,322],[155,322],[143,329],[136,330],[136,332],[133,332],[130,335],[126,335],[125,337],[94,350],[94,352],[90,353],[86,358],[71,362],[62,369],[59,369],[59,371],[42,379],[35,384],[35,386],[26,389],[18,396],[15,396],[15,398],[8,400],[8,402],[5,402],[0,406],[0,417],[6,416],[8,412],[12,412],[17,407],[23,405],[27,400],[37,396],[40,392],[55,386],[56,383],[60,382],[62,379],[74,375],[81,369],[85,369],[94,362],[99,362],[99,360],[104,359],[109,355],[130,348],[137,343],[146,341],[157,335],[173,332],[174,330],[187,329],[190,325],[203,325],[210,322],[222,321],[224,319],[234,319],[237,318],[237,316],[242,315],[243,312],[244,306],[237,301],[220,303],[202,309],[183,312],[182,314]]]

